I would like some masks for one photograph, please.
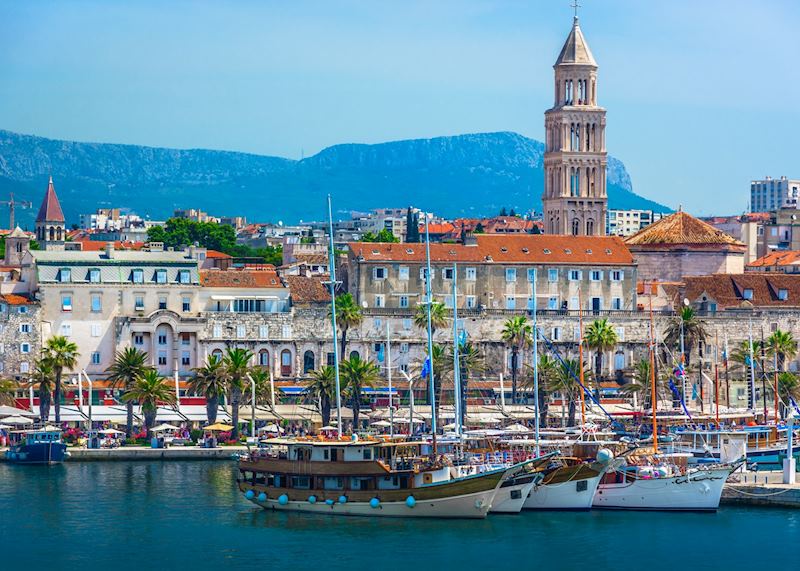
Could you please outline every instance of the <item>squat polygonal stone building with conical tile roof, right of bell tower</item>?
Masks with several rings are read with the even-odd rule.
[[[626,238],[625,244],[645,281],[744,271],[744,244],[683,211]]]

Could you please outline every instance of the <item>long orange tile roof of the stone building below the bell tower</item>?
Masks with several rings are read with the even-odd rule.
[[[633,256],[617,236],[548,234],[480,234],[477,245],[431,244],[434,262],[513,264],[633,264]],[[351,242],[350,256],[365,262],[423,262],[425,244]]]

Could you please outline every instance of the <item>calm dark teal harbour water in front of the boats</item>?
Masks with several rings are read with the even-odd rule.
[[[761,569],[798,540],[800,510],[334,518],[255,508],[232,462],[0,463],[0,569]]]

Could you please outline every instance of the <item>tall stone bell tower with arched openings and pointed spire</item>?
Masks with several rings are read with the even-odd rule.
[[[606,233],[606,110],[597,105],[597,63],[578,16],[555,65],[545,111],[543,223],[547,234]]]

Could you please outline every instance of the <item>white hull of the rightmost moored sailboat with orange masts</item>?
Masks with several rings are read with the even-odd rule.
[[[715,511],[730,468],[698,470],[688,476],[600,484],[593,507],[653,511]]]

